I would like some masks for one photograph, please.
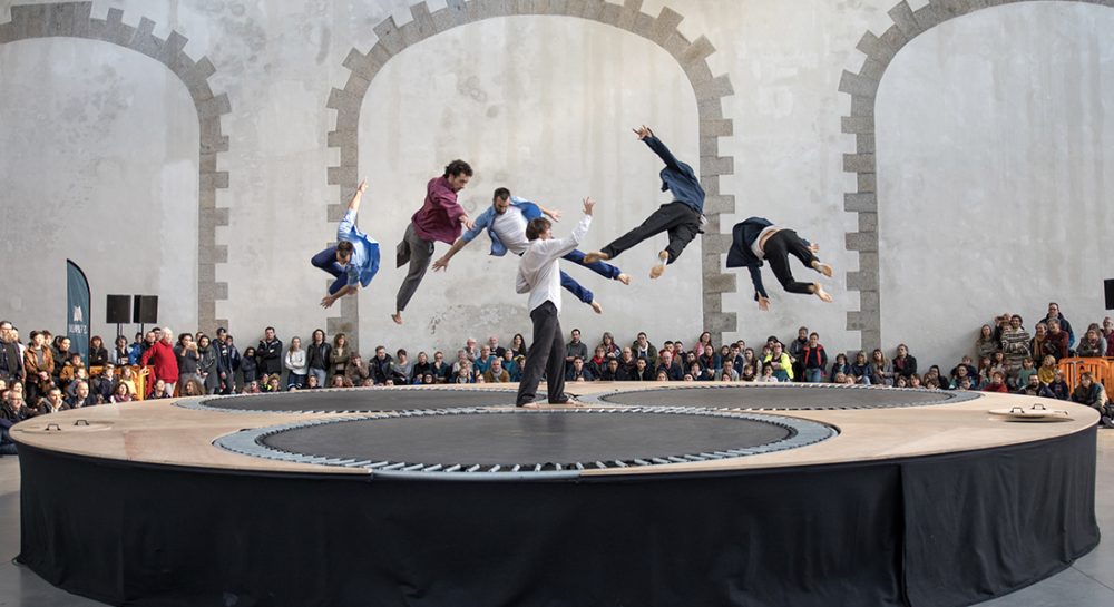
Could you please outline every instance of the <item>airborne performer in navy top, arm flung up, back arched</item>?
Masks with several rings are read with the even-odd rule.
[[[593,263],[614,260],[638,243],[667,232],[670,244],[657,254],[658,264],[649,270],[649,277],[657,278],[665,272],[666,264],[675,262],[685,246],[701,233],[701,225],[704,222],[704,188],[701,187],[700,177],[693,172],[693,167],[677,160],[670,148],[654,136],[649,127],[643,125],[634,129],[634,133],[665,163],[665,168],[661,173],[662,192],[668,190],[674,200],[662,205],[642,225],[612,244],[588,253],[584,256],[584,261]]]

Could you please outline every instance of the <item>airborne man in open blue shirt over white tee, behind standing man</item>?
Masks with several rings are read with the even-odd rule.
[[[492,195],[491,206],[476,217],[476,224],[472,228],[457,238],[457,242],[452,243],[452,247],[433,262],[433,271],[448,268],[452,256],[459,253],[460,249],[472,242],[485,229],[487,229],[488,236],[491,238],[491,255],[501,257],[508,251],[515,255],[521,255],[526,253],[526,249],[530,245],[529,239],[526,237],[527,225],[531,221],[543,216],[554,222],[560,221],[560,212],[546,208],[537,203],[517,196],[511,196],[509,189],[500,187]],[[605,278],[619,281],[623,284],[631,284],[631,277],[614,265],[604,262],[586,263],[584,261],[584,253],[580,251],[573,249],[561,258],[587,267]],[[603,306],[596,301],[592,291],[585,288],[564,271],[560,273],[560,285],[566,291],[576,295],[576,298],[590,305],[596,314],[603,312]]]

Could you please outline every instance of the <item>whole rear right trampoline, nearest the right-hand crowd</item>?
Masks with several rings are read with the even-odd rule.
[[[872,388],[811,383],[710,384],[648,390],[619,390],[590,402],[605,405],[703,407],[744,411],[808,411],[834,409],[890,409],[969,401],[977,392],[945,392],[912,388]]]

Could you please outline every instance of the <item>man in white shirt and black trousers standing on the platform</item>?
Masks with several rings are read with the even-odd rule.
[[[575,249],[592,225],[592,209],[596,203],[584,199],[584,217],[567,238],[553,236],[553,224],[545,217],[531,219],[526,226],[530,245],[518,262],[515,290],[529,293],[530,320],[534,322],[534,341],[526,355],[522,381],[518,384],[518,407],[535,407],[534,398],[545,370],[550,404],[565,404],[565,339],[560,321],[560,266],[558,260]]]

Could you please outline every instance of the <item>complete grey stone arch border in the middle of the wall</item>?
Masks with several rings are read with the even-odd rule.
[[[615,4],[606,0],[448,0],[447,7],[430,11],[424,2],[410,7],[413,19],[399,26],[393,17],[373,29],[379,38],[367,53],[353,48],[344,59],[351,74],[343,89],[334,88],[326,107],[336,110],[335,129],[329,133],[329,147],[340,149],[339,166],[329,167],[329,185],[339,185],[336,204],[330,204],[328,219],[340,221],[344,205],[355,192],[359,179],[360,109],[368,87],[379,71],[407,48],[452,28],[486,19],[511,16],[577,17],[613,26],[665,49],[684,70],[696,95],[700,118],[700,175],[707,193],[704,211],[709,218],[702,238],[704,330],[721,341],[724,332],[736,330],[736,314],[723,312],[722,297],[735,292],[735,276],[723,272],[720,256],[731,246],[731,234],[720,234],[720,216],[735,211],[735,197],[721,194],[720,176],[734,174],[734,158],[720,156],[720,137],[733,135],[731,119],[723,117],[723,97],[734,95],[726,75],[712,76],[707,57],[715,47],[701,36],[690,41],[677,30],[683,16],[668,7],[657,17],[642,12],[642,0]],[[388,247],[391,248],[391,247]],[[358,334],[359,306],[355,297],[340,304],[340,316],[328,320],[330,333]]]

